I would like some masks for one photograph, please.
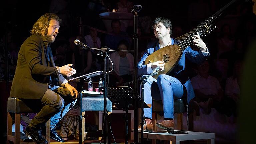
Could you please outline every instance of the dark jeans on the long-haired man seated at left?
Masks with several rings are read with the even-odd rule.
[[[51,128],[54,128],[61,118],[76,103],[76,100],[66,88],[50,85],[41,99],[22,99],[29,107],[39,111],[28,124],[40,128],[51,118]],[[40,110],[41,109],[41,110]]]

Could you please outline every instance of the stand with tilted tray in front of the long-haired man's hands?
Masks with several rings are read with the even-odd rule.
[[[92,77],[98,76],[98,75],[102,75],[104,74],[104,72],[102,71],[96,71],[96,72],[92,72],[89,74],[85,74],[79,77],[71,77],[71,79],[69,79],[68,81],[74,81],[74,82],[79,82],[79,100],[80,100],[80,114],[79,114],[79,144],[82,144],[82,118],[85,116],[82,116],[82,97],[83,97],[83,86],[84,86],[84,82],[87,79],[90,79]]]

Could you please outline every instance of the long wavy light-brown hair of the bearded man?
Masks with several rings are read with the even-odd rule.
[[[59,23],[62,21],[56,14],[46,13],[35,22],[33,28],[30,30],[31,35],[41,34],[42,32],[47,35],[47,29],[50,25],[50,20],[52,19],[57,20]]]

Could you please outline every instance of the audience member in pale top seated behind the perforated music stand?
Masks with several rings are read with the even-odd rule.
[[[118,44],[118,50],[127,50],[129,44],[126,40],[122,40]],[[110,55],[110,59],[113,62],[114,70],[112,71],[113,76],[116,79],[111,79],[113,83],[119,82],[123,84],[133,80],[134,71],[134,57],[128,52],[114,52]]]

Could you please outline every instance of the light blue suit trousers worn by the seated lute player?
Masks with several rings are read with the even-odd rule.
[[[144,75],[146,76],[146,75]],[[174,119],[173,101],[183,96],[182,83],[172,76],[161,74],[157,80],[149,77],[144,84],[144,101],[152,105],[152,99],[163,102],[164,118]],[[144,115],[152,119],[152,108],[144,108]]]

